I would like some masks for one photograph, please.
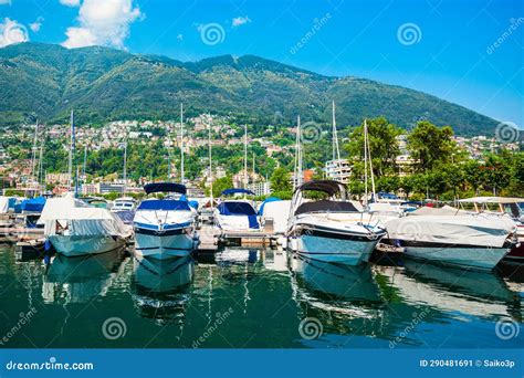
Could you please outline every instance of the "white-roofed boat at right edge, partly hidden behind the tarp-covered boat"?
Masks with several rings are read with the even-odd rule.
[[[509,217],[516,223],[517,244],[507,253],[503,261],[524,264],[524,198],[512,197],[473,197],[458,201],[461,206],[472,203],[475,212]]]

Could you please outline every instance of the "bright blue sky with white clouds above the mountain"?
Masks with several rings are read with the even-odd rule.
[[[259,55],[422,91],[524,127],[522,0],[0,0],[0,48]]]

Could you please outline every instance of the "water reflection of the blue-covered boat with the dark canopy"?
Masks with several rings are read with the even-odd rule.
[[[191,256],[155,260],[135,254],[132,287],[139,315],[159,324],[182,324],[193,274]]]

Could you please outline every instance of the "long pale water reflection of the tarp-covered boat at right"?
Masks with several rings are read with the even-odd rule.
[[[377,267],[389,276],[399,295],[454,317],[507,318],[518,313],[520,300],[506,283],[491,272],[455,270],[411,260],[398,274],[391,266]],[[459,273],[459,274],[458,274]]]

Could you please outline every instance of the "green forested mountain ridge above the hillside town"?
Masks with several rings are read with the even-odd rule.
[[[46,122],[169,119],[210,112],[250,122],[328,122],[384,115],[401,127],[418,119],[451,125],[461,135],[492,135],[497,122],[438,97],[358,77],[323,76],[262,57],[231,55],[199,62],[93,46],[21,43],[0,49],[0,125],[38,115]]]

